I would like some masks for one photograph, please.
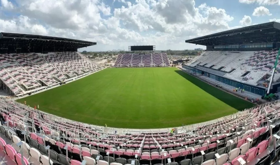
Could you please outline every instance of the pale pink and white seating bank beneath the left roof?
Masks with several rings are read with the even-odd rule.
[[[101,70],[78,52],[1,54],[0,80],[20,96]]]

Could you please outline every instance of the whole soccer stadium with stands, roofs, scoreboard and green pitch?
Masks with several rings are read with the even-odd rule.
[[[105,67],[78,52],[96,42],[2,32],[1,164],[277,165],[279,36],[189,39],[206,51],[177,67],[130,46]]]

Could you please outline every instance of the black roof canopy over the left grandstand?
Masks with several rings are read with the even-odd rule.
[[[33,34],[0,33],[0,51],[1,49],[22,49],[25,53],[27,52],[26,49],[29,52],[36,53],[40,51],[77,51],[79,48],[92,45],[96,45],[96,42]],[[9,50],[7,52],[12,53],[13,51]]]

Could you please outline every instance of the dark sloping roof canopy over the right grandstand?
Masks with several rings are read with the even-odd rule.
[[[205,46],[280,42],[280,23],[262,23],[193,38],[185,42]]]

